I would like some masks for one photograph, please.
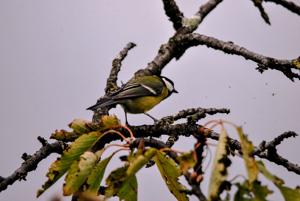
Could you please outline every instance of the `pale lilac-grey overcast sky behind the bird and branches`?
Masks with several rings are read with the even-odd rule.
[[[184,15],[191,17],[206,1],[176,2]],[[293,2],[300,5],[300,0]],[[196,33],[232,41],[264,56],[297,58],[300,16],[274,3],[263,6],[271,26],[260,17],[252,1],[231,0],[223,1],[208,14]],[[112,59],[128,42],[136,43],[137,47],[122,62],[119,84],[145,68],[173,33],[161,1],[1,1],[0,175],[11,175],[23,162],[24,152],[34,154],[41,148],[38,136],[49,139],[55,129],[68,129],[67,124],[76,118],[91,120],[93,112],[85,109],[104,94]],[[190,48],[162,71],[163,76],[174,81],[179,93],[161,102],[149,114],[161,118],[187,108],[229,108],[228,115],[208,116],[198,123],[211,119],[232,121],[243,127],[254,145],[262,140],[271,141],[289,130],[300,134],[300,82],[292,82],[275,70],[261,75],[256,66],[241,56],[206,46]],[[125,123],[121,107],[110,112]],[[141,125],[152,124],[153,120],[143,114],[128,114],[128,122]],[[238,139],[230,126],[226,128],[231,138]],[[214,130],[220,132],[219,128]],[[192,137],[181,137],[174,148],[190,151],[194,143]],[[278,153],[300,164],[299,144],[300,137],[286,139],[277,146]],[[47,180],[46,172],[57,157],[58,154],[52,154],[39,163],[36,171],[29,172],[27,181],[8,186],[0,193],[0,200],[35,200],[36,191]],[[245,169],[240,158],[231,159],[235,165],[229,168],[229,180]],[[110,170],[121,166],[118,161],[115,156],[109,164]],[[267,161],[265,164],[270,172],[284,179],[286,186],[300,185],[299,175]],[[209,167],[201,184],[205,195]],[[277,192],[268,199],[283,200],[273,184],[262,176],[259,178]],[[137,179],[138,200],[176,200],[157,167],[141,170]],[[37,200],[60,196],[63,182],[61,178]],[[197,199],[191,197],[191,200]]]

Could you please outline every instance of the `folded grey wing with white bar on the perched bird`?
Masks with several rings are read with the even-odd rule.
[[[116,89],[114,93],[117,93],[112,99],[124,99],[124,98],[134,98],[140,96],[158,96],[162,93],[164,89],[164,84],[161,81],[152,82],[152,86],[158,87],[150,87],[149,84],[140,84],[137,82],[125,84],[125,86],[120,87],[120,89]]]

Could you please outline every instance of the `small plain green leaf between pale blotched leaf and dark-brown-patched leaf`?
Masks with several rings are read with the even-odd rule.
[[[87,184],[89,185],[87,193],[97,194],[98,189],[100,187],[100,183],[103,179],[103,175],[107,164],[110,162],[110,159],[113,155],[110,155],[108,158],[101,160],[94,169],[92,170],[91,174],[88,176]]]

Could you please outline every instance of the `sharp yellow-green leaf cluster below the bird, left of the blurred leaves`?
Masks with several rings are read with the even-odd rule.
[[[104,130],[120,126],[119,120],[115,116],[103,116],[101,122],[95,125],[86,120],[77,119],[69,126],[73,129],[72,132],[61,130],[52,134],[52,138],[55,139],[65,141],[76,139],[63,152],[61,158],[52,163],[46,175],[48,181],[42,186],[43,189],[38,190],[37,196],[40,196],[67,172],[63,186],[65,196],[76,193],[80,187],[83,187],[83,192],[79,196],[80,199],[84,200],[87,197],[95,199],[99,196],[98,190],[107,164],[116,152],[105,159],[101,159],[101,155],[106,148],[95,153],[90,150],[96,142],[101,140],[104,134],[108,133],[103,132]],[[130,147],[130,145],[127,144],[124,147]],[[179,200],[188,200],[186,193],[184,193],[186,188],[178,181],[179,176],[182,175],[181,170],[172,158],[166,157],[166,153],[156,148],[138,149],[136,152],[134,152],[134,148],[131,148],[124,166],[113,170],[107,177],[106,184],[108,187],[105,190],[105,197],[119,196],[120,200],[137,200],[136,173],[152,158],[154,158],[167,187],[173,195]]]

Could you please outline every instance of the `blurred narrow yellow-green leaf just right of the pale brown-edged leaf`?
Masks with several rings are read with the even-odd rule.
[[[249,182],[250,184],[254,181],[257,181],[257,175],[258,175],[258,168],[257,163],[254,160],[254,157],[252,156],[253,151],[253,145],[252,142],[249,142],[247,139],[247,136],[243,134],[243,131],[241,127],[238,127],[238,135],[241,138],[241,148],[243,152],[243,159],[246,164],[248,176],[249,176]]]

